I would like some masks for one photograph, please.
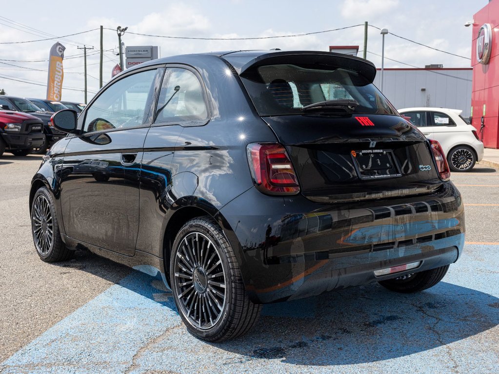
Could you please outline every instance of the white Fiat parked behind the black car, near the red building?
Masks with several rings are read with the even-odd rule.
[[[484,143],[458,109],[404,108],[399,113],[410,117],[429,139],[442,145],[452,171],[470,171],[484,157]]]

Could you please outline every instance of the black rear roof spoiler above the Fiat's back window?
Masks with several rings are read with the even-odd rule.
[[[299,64],[311,67],[340,67],[363,76],[369,83],[376,77],[376,67],[370,61],[342,53],[324,51],[281,51],[259,55],[248,61],[241,68],[236,68],[239,75],[249,74],[254,69],[265,65]]]

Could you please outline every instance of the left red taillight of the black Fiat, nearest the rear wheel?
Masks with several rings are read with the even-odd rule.
[[[281,144],[251,143],[247,152],[251,176],[261,192],[270,195],[300,192],[293,164]]]

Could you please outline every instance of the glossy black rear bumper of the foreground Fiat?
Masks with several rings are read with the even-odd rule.
[[[246,289],[259,303],[447,265],[464,247],[464,209],[452,183],[432,195],[331,205],[250,189],[220,213]],[[374,275],[417,261],[417,269]]]

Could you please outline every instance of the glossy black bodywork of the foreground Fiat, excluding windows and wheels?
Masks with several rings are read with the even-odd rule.
[[[421,261],[401,274],[455,262],[465,233],[460,194],[440,179],[424,136],[391,106],[395,114],[258,114],[239,73],[310,56],[374,79],[372,64],[326,52],[193,54],[128,69],[92,99],[78,128],[106,90],[155,69],[149,117],[57,143],[33,178],[30,205],[34,191],[47,186],[68,247],[160,272],[166,283],[178,230],[190,218],[214,217],[258,303],[387,279],[393,275],[373,270],[407,262]],[[155,122],[162,74],[171,69],[197,77],[206,119]],[[261,193],[250,174],[247,145],[276,142],[296,169],[300,192],[293,196]],[[352,153],[369,150],[390,154],[395,171],[371,178],[376,170],[362,169]]]

